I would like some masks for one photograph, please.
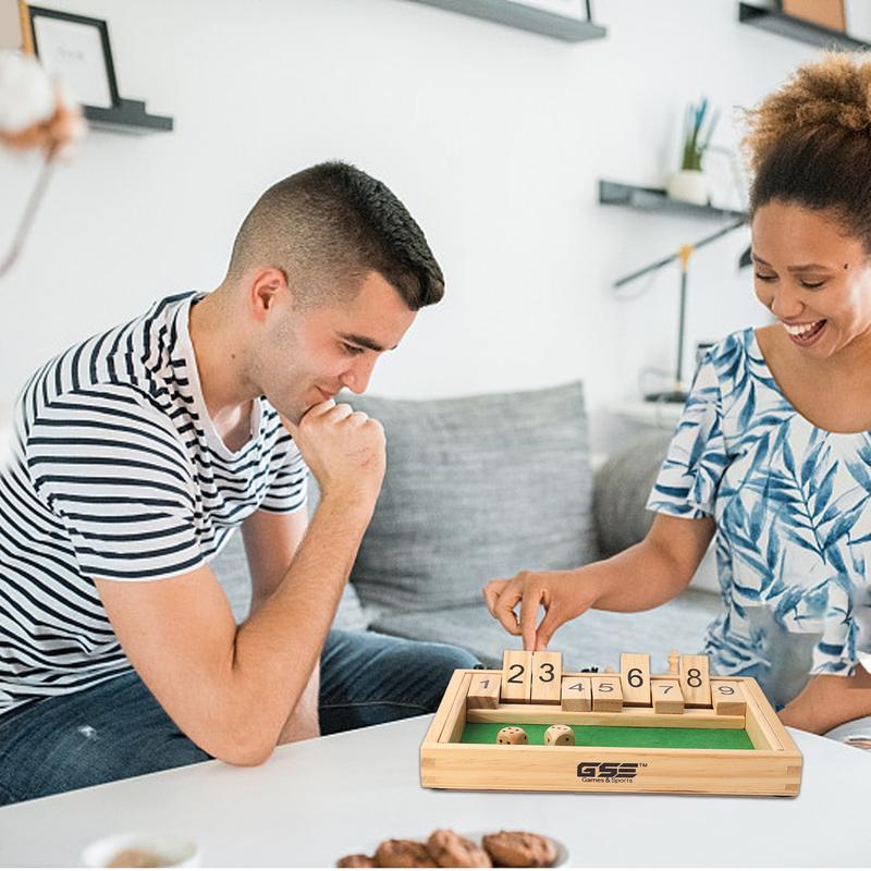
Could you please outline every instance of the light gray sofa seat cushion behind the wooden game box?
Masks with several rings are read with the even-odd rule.
[[[670,650],[696,653],[702,648],[704,630],[720,612],[720,600],[707,592],[687,590],[652,611],[617,614],[588,611],[556,630],[551,648],[563,653],[566,671],[598,666],[619,668],[619,654],[650,653],[651,667],[668,671]],[[519,637],[508,635],[481,604],[442,611],[391,614],[370,627],[387,635],[444,641],[475,654],[488,667],[501,666],[502,652],[522,647]]]

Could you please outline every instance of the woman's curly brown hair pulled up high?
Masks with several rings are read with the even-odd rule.
[[[871,253],[871,54],[825,53],[746,120],[750,212],[773,199],[831,211]]]

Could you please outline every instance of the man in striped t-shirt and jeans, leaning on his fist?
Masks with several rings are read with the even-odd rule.
[[[328,633],[384,474],[381,426],[333,396],[442,293],[398,199],[326,163],[262,195],[216,291],[34,375],[0,473],[0,803],[258,764],[319,701],[324,732],[434,710],[467,653]],[[236,627],[208,562],[240,525]]]

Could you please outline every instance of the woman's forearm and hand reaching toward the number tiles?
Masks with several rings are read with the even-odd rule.
[[[496,578],[483,588],[483,598],[508,633],[523,636],[524,648],[543,650],[560,626],[591,608],[647,611],[674,599],[692,579],[713,535],[710,517],[658,514],[643,541],[610,560],[568,572]],[[545,614],[537,627],[541,605]]]

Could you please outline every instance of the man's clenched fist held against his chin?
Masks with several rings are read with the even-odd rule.
[[[332,400],[309,408],[298,425],[282,420],[323,496],[359,499],[375,506],[387,466],[381,424]]]

